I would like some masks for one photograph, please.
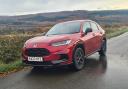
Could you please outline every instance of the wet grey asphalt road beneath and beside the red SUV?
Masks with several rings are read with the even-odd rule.
[[[108,40],[107,57],[90,56],[82,71],[30,68],[1,78],[0,89],[128,89],[128,33]]]

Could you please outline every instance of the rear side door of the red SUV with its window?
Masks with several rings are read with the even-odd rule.
[[[101,32],[95,22],[91,22],[92,34],[93,34],[93,51],[97,51],[101,47],[102,36]]]

